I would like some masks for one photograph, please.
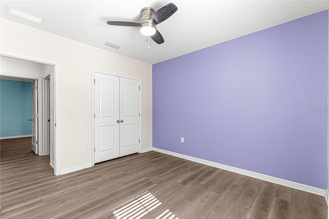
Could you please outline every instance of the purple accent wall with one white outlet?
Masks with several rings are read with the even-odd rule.
[[[153,65],[153,147],[327,189],[327,32],[323,11]]]

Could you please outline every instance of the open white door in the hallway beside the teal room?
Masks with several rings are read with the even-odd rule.
[[[35,80],[31,86],[32,93],[32,151],[38,154],[38,80]]]

